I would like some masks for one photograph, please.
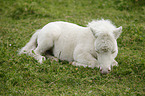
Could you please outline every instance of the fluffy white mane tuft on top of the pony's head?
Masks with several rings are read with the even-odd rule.
[[[110,20],[93,20],[88,23],[87,27],[95,30],[96,33],[112,33],[116,29],[116,26],[112,24]]]

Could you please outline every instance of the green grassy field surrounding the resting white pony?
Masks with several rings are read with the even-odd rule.
[[[83,68],[18,55],[35,30],[52,21],[86,26],[110,19],[123,27],[118,39],[119,67],[107,75]],[[145,95],[144,0],[0,0],[1,96]]]

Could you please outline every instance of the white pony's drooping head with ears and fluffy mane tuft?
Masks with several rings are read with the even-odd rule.
[[[114,58],[117,56],[117,38],[122,32],[122,27],[116,28],[108,20],[93,21],[89,27],[95,36],[95,51],[100,65],[100,72],[107,74],[111,71]]]

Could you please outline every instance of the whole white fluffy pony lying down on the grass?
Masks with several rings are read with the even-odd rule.
[[[116,28],[109,20],[103,19],[92,21],[87,27],[51,22],[36,31],[19,54],[28,54],[42,63],[46,60],[42,54],[52,49],[58,59],[75,66],[100,67],[101,73],[106,74],[111,71],[111,66],[117,66],[114,60],[118,53],[116,39],[121,32],[122,27]]]

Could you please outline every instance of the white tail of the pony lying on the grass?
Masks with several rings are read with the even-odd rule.
[[[41,29],[37,30],[31,37],[30,41],[19,51],[19,54],[31,54],[32,50],[37,47],[37,37]]]

